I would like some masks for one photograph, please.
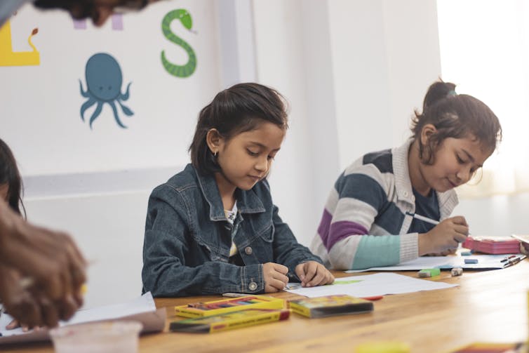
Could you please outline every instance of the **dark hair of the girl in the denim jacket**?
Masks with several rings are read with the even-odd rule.
[[[222,138],[229,140],[269,121],[280,128],[288,128],[287,105],[283,96],[273,88],[261,84],[236,84],[215,95],[203,107],[196,124],[193,142],[189,146],[191,163],[202,175],[220,171],[217,159],[206,143],[206,135],[215,128]]]

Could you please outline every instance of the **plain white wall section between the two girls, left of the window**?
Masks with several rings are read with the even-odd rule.
[[[274,200],[309,244],[340,172],[361,154],[408,138],[413,109],[440,75],[436,3],[253,4],[257,77],[292,106],[273,167]]]

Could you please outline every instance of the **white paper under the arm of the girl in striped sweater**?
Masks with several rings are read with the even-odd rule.
[[[509,255],[469,255],[469,256],[420,256],[415,260],[401,262],[394,266],[385,267],[370,267],[368,269],[349,269],[347,273],[366,272],[366,271],[408,271],[420,270],[425,268],[441,268],[451,269],[453,267],[462,267],[466,269],[500,269],[504,267],[502,260]],[[514,254],[519,258],[524,257],[523,254]],[[477,259],[476,264],[466,264],[464,259]]]

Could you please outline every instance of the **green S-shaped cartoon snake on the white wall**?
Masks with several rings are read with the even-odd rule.
[[[196,69],[196,55],[193,51],[193,48],[191,48],[191,46],[189,46],[186,41],[181,39],[170,30],[170,23],[173,22],[173,20],[180,20],[182,25],[189,30],[191,30],[191,27],[193,26],[193,20],[191,19],[191,15],[189,15],[187,10],[179,8],[178,10],[173,10],[167,13],[167,15],[165,15],[161,21],[161,30],[163,35],[174,44],[184,48],[184,50],[187,52],[187,55],[189,55],[189,60],[187,60],[186,65],[175,65],[167,60],[165,51],[161,51],[161,63],[169,74],[177,77],[188,77],[191,76]]]

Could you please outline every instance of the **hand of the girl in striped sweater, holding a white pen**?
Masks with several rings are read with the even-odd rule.
[[[450,251],[467,239],[469,225],[464,217],[443,220],[427,233],[419,234],[419,255]]]

